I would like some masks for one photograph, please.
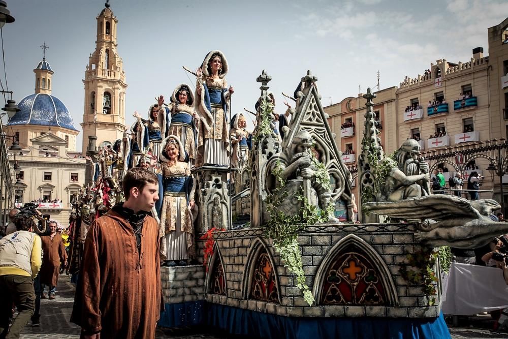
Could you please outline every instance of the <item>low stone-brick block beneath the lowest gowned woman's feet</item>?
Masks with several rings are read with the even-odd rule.
[[[205,296],[205,268],[203,265],[161,267],[165,303],[203,300]]]

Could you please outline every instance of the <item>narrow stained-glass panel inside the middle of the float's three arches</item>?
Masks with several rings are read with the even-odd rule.
[[[256,260],[251,286],[251,299],[279,302],[274,268],[266,252]]]

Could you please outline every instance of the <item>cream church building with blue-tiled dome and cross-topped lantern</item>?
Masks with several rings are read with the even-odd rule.
[[[45,57],[34,73],[35,93],[21,99],[20,111],[7,122],[9,134],[22,148],[10,156],[11,166],[17,165],[15,204],[39,200],[43,214],[67,225],[72,202],[83,187],[86,160],[76,152],[79,132],[71,113],[51,95],[54,72]]]

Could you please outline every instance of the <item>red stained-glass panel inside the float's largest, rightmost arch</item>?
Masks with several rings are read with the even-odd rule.
[[[387,296],[379,276],[361,249],[348,246],[326,272],[321,304],[385,305]]]

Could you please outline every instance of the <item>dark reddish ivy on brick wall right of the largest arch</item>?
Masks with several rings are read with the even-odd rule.
[[[437,282],[437,275],[434,272],[438,252],[432,248],[423,247],[413,253],[406,255],[406,262],[399,265],[399,272],[402,278],[410,284],[423,286],[426,295],[436,295],[434,283]],[[435,298],[429,299],[429,305],[435,303]]]

